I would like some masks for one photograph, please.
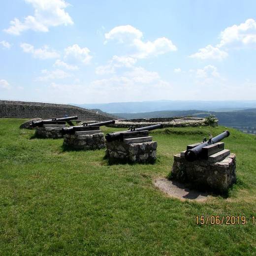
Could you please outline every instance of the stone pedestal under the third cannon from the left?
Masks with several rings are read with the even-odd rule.
[[[106,157],[130,162],[154,162],[157,159],[157,146],[150,136],[106,142]]]

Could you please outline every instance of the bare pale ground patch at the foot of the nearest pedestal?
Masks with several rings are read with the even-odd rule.
[[[166,178],[155,179],[154,185],[168,196],[178,198],[182,201],[188,199],[192,201],[204,202],[211,197],[208,193],[188,189],[182,183],[170,181]]]

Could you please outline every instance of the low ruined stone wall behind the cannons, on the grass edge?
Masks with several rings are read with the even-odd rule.
[[[168,121],[166,121],[168,119]],[[197,127],[204,126],[204,118],[150,118],[150,119],[130,119],[130,120],[116,120],[115,124],[108,125],[108,127],[129,128],[129,127],[145,127],[151,125],[162,124],[163,128],[168,127]]]

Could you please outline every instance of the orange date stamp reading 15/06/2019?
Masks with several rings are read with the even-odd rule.
[[[245,216],[197,215],[195,221],[197,225],[245,225],[248,221],[252,224],[256,224],[256,217],[253,216],[248,220]]]

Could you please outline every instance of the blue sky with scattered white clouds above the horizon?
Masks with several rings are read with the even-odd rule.
[[[0,98],[256,99],[256,1],[12,0]]]

